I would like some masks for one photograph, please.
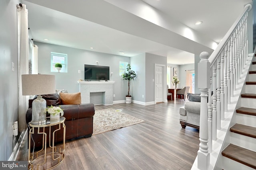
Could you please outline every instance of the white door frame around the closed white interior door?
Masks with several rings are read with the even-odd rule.
[[[163,102],[168,102],[167,101],[167,80],[166,80],[166,75],[167,75],[167,70],[166,70],[166,64],[157,64],[155,63],[154,66],[154,80],[156,80],[156,66],[161,66],[163,68],[163,74],[162,74],[162,80],[163,80]],[[166,95],[164,95],[166,94]],[[156,104],[156,81],[154,81],[154,102]]]

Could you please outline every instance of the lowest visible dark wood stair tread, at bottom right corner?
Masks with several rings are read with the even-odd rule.
[[[252,150],[230,144],[222,151],[222,155],[256,169],[256,152]]]

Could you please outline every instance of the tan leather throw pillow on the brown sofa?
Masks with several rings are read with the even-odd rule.
[[[81,104],[81,93],[63,93],[60,92],[62,104]]]

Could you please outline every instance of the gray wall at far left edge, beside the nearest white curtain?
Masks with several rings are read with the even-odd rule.
[[[14,149],[12,124],[18,121],[18,39],[19,0],[1,1],[0,10],[0,160],[8,160]],[[14,71],[12,71],[12,62]],[[18,139],[16,139],[17,141]]]

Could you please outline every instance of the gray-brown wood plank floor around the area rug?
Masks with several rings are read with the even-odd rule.
[[[67,142],[64,161],[53,170],[190,170],[200,142],[197,129],[179,123],[184,103],[95,106],[123,109],[146,122]],[[28,159],[26,142],[17,160]]]

